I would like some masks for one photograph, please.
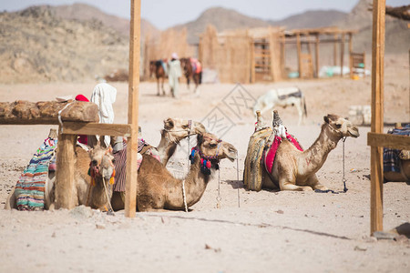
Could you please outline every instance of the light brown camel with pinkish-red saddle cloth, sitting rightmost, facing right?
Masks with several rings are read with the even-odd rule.
[[[345,136],[358,137],[359,130],[341,116],[327,115],[323,119],[319,137],[307,150],[300,151],[287,139],[282,140],[272,167],[274,181],[265,171],[263,187],[277,188],[276,185],[279,185],[281,190],[301,191],[327,189],[320,184],[316,172],[339,140]]]

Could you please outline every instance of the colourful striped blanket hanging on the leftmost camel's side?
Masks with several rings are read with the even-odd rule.
[[[54,158],[56,139],[46,138],[18,178],[15,197],[18,210],[43,210],[48,165]]]

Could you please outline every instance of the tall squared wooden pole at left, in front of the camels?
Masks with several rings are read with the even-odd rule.
[[[127,145],[127,179],[125,216],[135,217],[137,207],[137,154],[138,154],[138,85],[141,2],[131,0],[131,23],[129,34],[128,124],[131,136]]]

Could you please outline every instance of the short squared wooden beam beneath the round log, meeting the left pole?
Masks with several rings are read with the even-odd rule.
[[[131,126],[128,124],[64,122],[63,134],[128,137],[131,136]]]

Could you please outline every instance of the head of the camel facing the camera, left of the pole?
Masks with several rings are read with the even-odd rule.
[[[111,147],[96,146],[90,149],[88,153],[91,159],[89,165],[91,177],[104,177],[106,181],[109,181],[111,177],[115,176],[114,157]]]

